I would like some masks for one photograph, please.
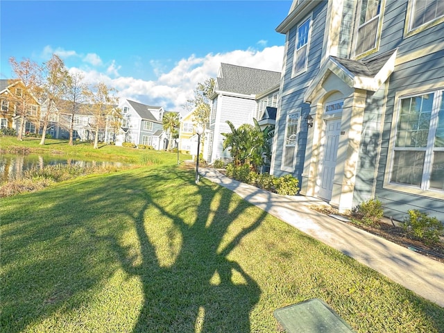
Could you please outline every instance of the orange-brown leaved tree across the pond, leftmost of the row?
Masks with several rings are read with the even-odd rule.
[[[12,71],[15,74],[15,78],[10,84],[16,84],[16,90],[8,97],[10,103],[15,105],[15,115],[20,117],[19,133],[17,140],[22,141],[23,130],[26,119],[37,122],[37,114],[33,115],[31,108],[37,107],[35,96],[39,96],[40,93],[40,66],[37,63],[24,59],[17,62],[14,57],[9,58]],[[19,81],[19,82],[17,82]]]

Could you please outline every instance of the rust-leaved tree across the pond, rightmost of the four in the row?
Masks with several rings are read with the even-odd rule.
[[[92,90],[85,92],[89,99],[90,110],[94,116],[94,149],[99,148],[99,134],[100,130],[106,126],[106,117],[115,110],[116,105],[119,103],[119,99],[114,96],[117,91],[108,87],[105,83],[98,83],[93,86]]]

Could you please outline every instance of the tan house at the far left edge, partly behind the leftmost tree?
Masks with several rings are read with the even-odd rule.
[[[0,80],[0,128],[13,128],[18,133],[21,119],[16,112],[17,97],[12,98],[12,95],[22,96],[24,92],[22,81]],[[34,96],[28,96],[27,103],[23,134],[37,134],[40,123],[40,103]]]

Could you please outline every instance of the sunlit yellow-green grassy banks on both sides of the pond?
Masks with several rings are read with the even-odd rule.
[[[70,180],[80,176],[99,173],[112,173],[122,169],[160,164],[171,162],[173,158],[177,161],[177,154],[163,153],[159,151],[146,151],[119,146],[109,146],[103,144],[100,148],[94,149],[90,142],[76,142],[74,146],[69,146],[67,141],[46,140],[46,144],[40,146],[40,139],[28,138],[23,142],[18,142],[15,137],[1,137],[0,151],[2,154],[28,155],[34,154],[35,159],[44,156],[63,156],[70,160],[82,160],[96,162],[119,162],[119,165],[91,165],[82,167],[77,164],[56,164],[45,167],[36,166],[24,171],[20,176],[0,183],[0,198],[14,196],[15,194],[39,191],[52,185],[54,182]],[[54,145],[57,145],[54,149]],[[39,155],[39,156],[37,156]],[[188,155],[182,155],[188,157]],[[8,170],[8,165],[4,167]]]

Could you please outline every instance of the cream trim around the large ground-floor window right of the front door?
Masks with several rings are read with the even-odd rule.
[[[436,86],[441,87],[441,88],[436,88]],[[408,99],[409,97],[420,96],[420,95],[427,94],[427,93],[434,93],[435,99],[437,100],[438,97],[436,96],[436,93],[441,92],[441,91],[444,91],[444,82],[439,83],[438,85],[425,86],[425,87],[423,87],[423,89],[418,89],[418,88],[406,89],[402,92],[397,92],[395,94],[395,103],[394,103],[395,109],[393,110],[393,121],[391,123],[391,135],[390,135],[390,142],[388,144],[386,171],[384,173],[384,185],[383,185],[384,189],[393,189],[395,191],[401,191],[401,192],[405,192],[407,194],[416,194],[418,196],[427,196],[430,198],[438,198],[440,200],[444,200],[444,191],[427,188],[429,185],[428,181],[425,184],[422,184],[421,187],[390,182],[391,172],[392,172],[393,162],[394,162],[394,157],[395,157],[395,140],[396,140],[396,132],[397,132],[397,127],[398,127],[398,119],[400,116],[400,105],[401,105],[402,99]],[[443,94],[444,94],[444,92],[443,92]],[[434,105],[436,104],[436,100],[434,101]],[[430,121],[431,122],[436,121],[437,117],[434,117],[434,118],[432,117],[432,119]],[[433,133],[435,133],[435,131],[433,131]],[[429,133],[429,135],[432,135],[432,133]],[[427,159],[427,156],[425,158]],[[429,160],[431,160],[431,159],[429,158]],[[429,161],[427,163],[432,163],[432,161]],[[425,162],[425,164],[426,164],[426,162]],[[424,170],[424,173],[426,173],[426,176],[424,176],[424,174],[423,174],[422,180],[427,178],[428,172],[429,172],[428,170],[426,170],[426,169]]]

